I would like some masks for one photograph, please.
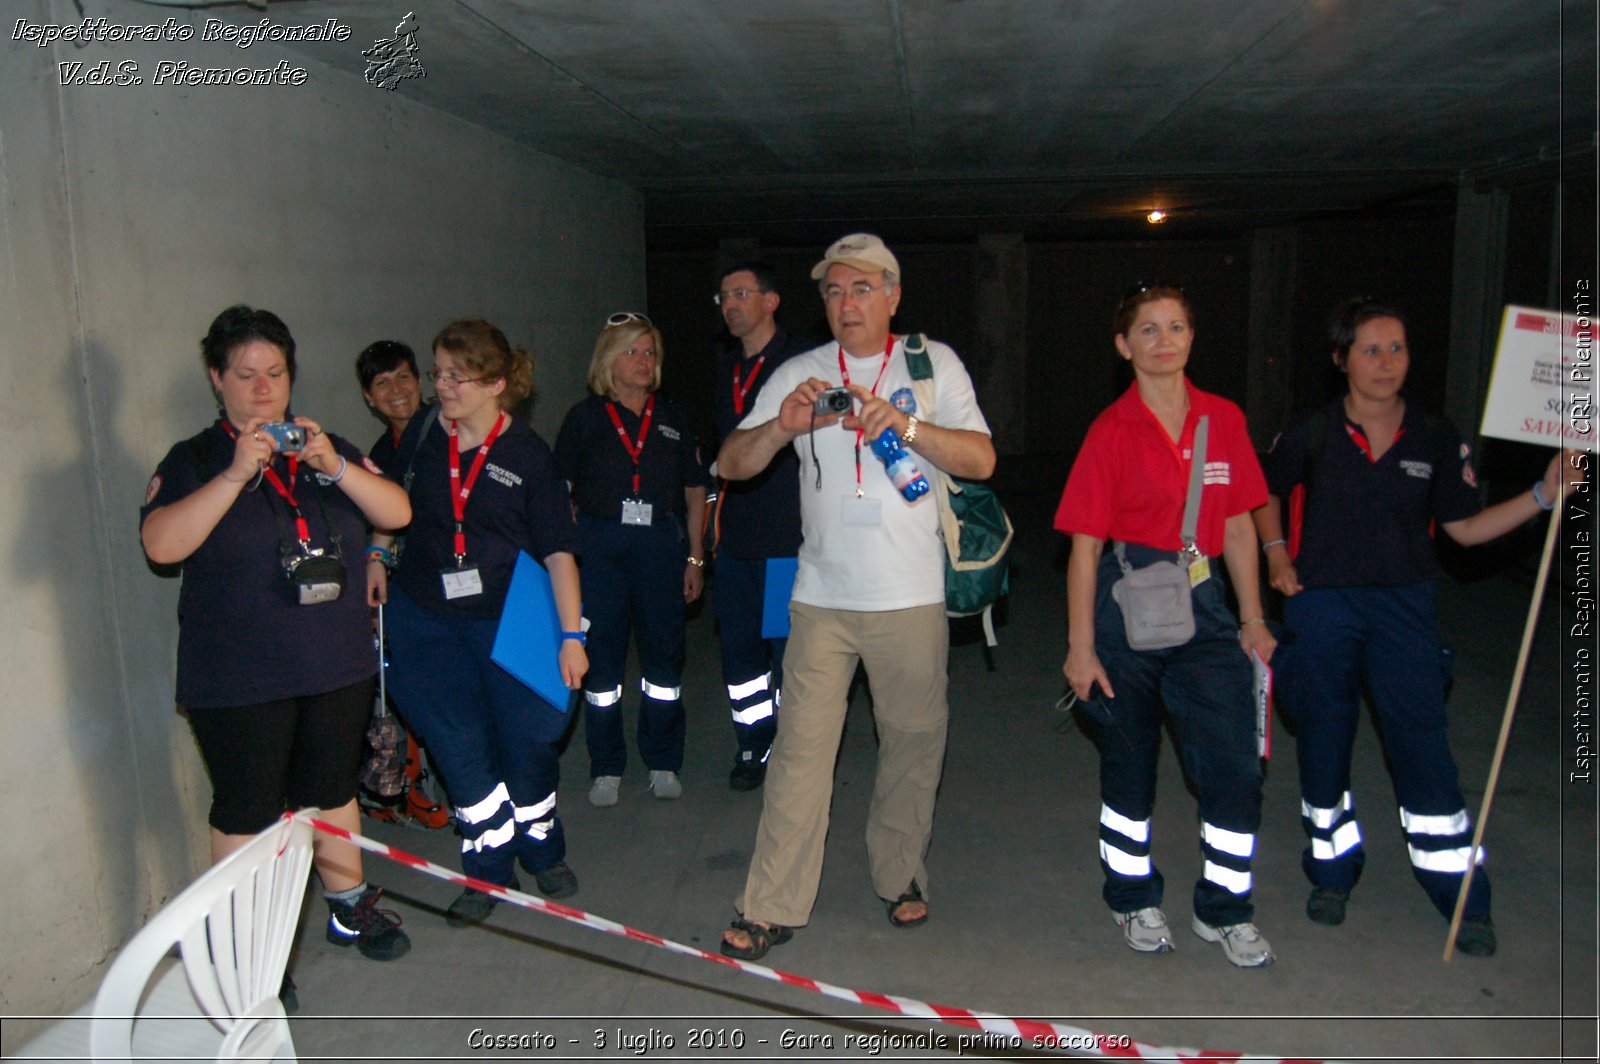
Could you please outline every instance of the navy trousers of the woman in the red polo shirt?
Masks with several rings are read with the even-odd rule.
[[[1126,547],[1142,568],[1171,552]],[[1253,918],[1250,862],[1261,822],[1261,758],[1256,752],[1253,670],[1238,646],[1238,621],[1227,610],[1219,560],[1194,589],[1195,635],[1170,650],[1133,650],[1110,586],[1122,568],[1110,544],[1096,579],[1094,650],[1117,698],[1104,699],[1110,723],[1101,750],[1102,896],[1114,912],[1162,904],[1163,878],[1150,856],[1150,811],[1162,750],[1162,707],[1178,739],[1184,773],[1200,795],[1205,866],[1194,912],[1214,926]]]

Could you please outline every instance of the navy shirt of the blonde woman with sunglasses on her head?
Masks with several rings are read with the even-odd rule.
[[[555,462],[562,478],[573,485],[579,514],[621,522],[622,499],[643,499],[653,507],[653,523],[661,525],[670,515],[683,514],[685,488],[706,486],[706,466],[688,413],[659,392],[654,400],[650,437],[638,456],[638,491],[634,491],[634,459],[611,424],[608,400],[590,395],[566,411],[555,437]],[[627,438],[638,443],[643,416],[622,403],[613,406]]]

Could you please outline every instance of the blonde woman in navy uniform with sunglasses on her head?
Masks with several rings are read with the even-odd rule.
[[[571,488],[584,558],[592,669],[584,682],[589,800],[616,805],[627,744],[622,666],[638,635],[638,755],[658,798],[683,794],[683,608],[699,598],[706,467],[688,413],[658,394],[661,331],[606,318],[589,362],[592,395],[566,413],[555,461]]]

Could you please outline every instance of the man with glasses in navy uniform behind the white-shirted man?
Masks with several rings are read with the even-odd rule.
[[[712,395],[715,443],[726,440],[755,405],[778,366],[816,347],[778,325],[778,278],[770,262],[736,262],[722,274],[717,306],[736,344],[717,363]],[[722,678],[739,754],[728,774],[734,790],[755,790],[778,733],[786,638],[762,637],[770,558],[800,550],[800,458],[782,448],[746,480],[723,478],[710,507],[707,546],[717,552],[717,632]],[[717,472],[715,469],[712,472]]]

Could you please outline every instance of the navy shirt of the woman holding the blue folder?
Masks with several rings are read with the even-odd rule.
[[[478,450],[461,454],[462,482]],[[418,443],[414,470],[411,525],[394,579],[418,605],[456,618],[498,618],[518,550],[539,562],[560,550],[578,554],[578,525],[555,456],[514,418],[490,448],[464,512],[466,563],[477,566],[483,592],[445,598],[440,570],[456,565],[456,515],[450,502],[450,422],[443,418]]]

